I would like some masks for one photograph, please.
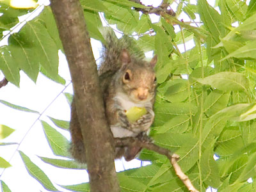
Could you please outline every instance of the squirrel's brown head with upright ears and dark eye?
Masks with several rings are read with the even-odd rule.
[[[156,74],[154,66],[157,56],[150,62],[132,58],[126,49],[120,54],[122,62],[122,88],[123,92],[134,102],[147,102],[156,93]]]

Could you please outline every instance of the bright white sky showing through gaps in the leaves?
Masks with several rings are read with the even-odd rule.
[[[145,0],[143,3],[153,4],[157,6],[161,0],[149,1]],[[195,1],[191,1],[195,4]],[[210,1],[214,3],[214,1]],[[182,19],[188,19],[187,15],[181,15]],[[152,20],[157,20],[158,17],[152,17]],[[187,45],[187,49],[193,47],[193,43]],[[93,53],[95,54],[95,59],[99,58],[100,43],[96,40],[92,40]],[[179,46],[180,51],[183,52],[183,45]],[[60,52],[60,66],[59,74],[61,77],[66,79],[67,84],[70,83],[70,74],[68,71],[67,61],[65,56]],[[3,74],[0,74],[0,81],[3,79]],[[54,83],[47,77],[39,74],[36,84],[29,79],[24,72],[20,72],[20,88],[17,88],[11,83],[0,89],[0,99],[11,102],[19,106],[24,106],[29,109],[33,109],[42,113],[42,111],[47,108],[47,106],[56,98],[56,96],[61,93],[65,86]],[[65,92],[72,93],[72,85],[70,84]],[[44,115],[41,116],[41,120],[47,121],[52,127],[54,124],[48,120],[47,116],[52,116],[61,120],[70,120],[70,108],[68,106],[67,100],[63,94],[58,96],[56,100],[49,106]],[[19,146],[19,150],[22,150],[27,156],[30,157],[31,161],[38,165],[51,179],[52,182],[61,185],[69,184],[79,184],[81,182],[88,181],[88,175],[84,170],[65,170],[61,168],[55,168],[49,164],[43,163],[36,156],[43,157],[56,157],[52,154],[51,148],[49,147],[47,140],[45,138],[42,125],[38,120],[38,115],[33,113],[26,113],[22,111],[17,111],[15,109],[9,108],[0,104],[0,124],[7,125],[12,129],[15,129],[8,138],[1,140],[1,142],[17,142],[24,138]],[[35,123],[36,121],[36,123]],[[33,125],[35,123],[35,125]],[[32,126],[33,125],[33,126]],[[70,138],[67,132],[57,129],[62,134]],[[28,132],[28,135],[26,133]],[[24,166],[19,153],[16,151],[17,145],[10,145],[8,147],[0,147],[0,157],[10,161],[12,167],[7,168],[4,173],[3,169],[0,169],[1,180],[3,180],[12,192],[36,192],[36,191],[47,191],[40,183],[33,179]],[[13,156],[14,154],[14,156]],[[12,157],[13,156],[13,157]],[[146,164],[146,163],[145,163]],[[122,160],[116,161],[116,170],[119,172],[121,170],[139,167],[141,161],[132,160],[126,163]],[[65,189],[59,188],[58,185],[54,185],[56,188],[61,189],[61,191],[66,191]]]

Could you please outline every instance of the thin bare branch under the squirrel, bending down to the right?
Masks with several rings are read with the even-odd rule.
[[[176,175],[179,177],[180,180],[184,183],[184,185],[189,189],[191,192],[199,192],[191,183],[191,180],[189,180],[188,176],[185,175],[179,164],[179,156],[177,154],[173,154],[170,152],[170,150],[159,147],[156,144],[148,141],[148,140],[139,140],[138,138],[115,138],[115,146],[116,147],[132,147],[132,146],[137,146],[137,147],[142,147],[142,148],[147,148],[148,150],[153,150],[154,152],[157,152],[158,154],[166,156],[169,160],[170,163],[172,164]]]

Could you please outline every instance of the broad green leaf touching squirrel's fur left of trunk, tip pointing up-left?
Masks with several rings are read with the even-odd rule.
[[[60,132],[52,128],[47,122],[41,121],[47,141],[56,156],[69,157],[69,142]]]

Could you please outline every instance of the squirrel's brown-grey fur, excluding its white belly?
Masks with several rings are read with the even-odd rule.
[[[113,45],[105,46],[102,65],[99,68],[99,80],[108,124],[110,127],[117,125],[122,127],[123,130],[129,129],[136,136],[141,132],[147,132],[154,120],[152,105],[156,93],[154,65],[156,65],[157,58],[154,57],[150,62],[147,62],[138,56],[130,55],[126,49],[120,49],[119,43],[113,43],[115,40],[111,39],[109,42]],[[146,108],[148,114],[143,117],[145,119],[141,118],[141,120],[131,125],[127,122],[127,127],[125,127],[125,115],[120,116],[121,113],[124,113],[124,107],[116,99],[118,94],[125,95],[129,102],[135,104],[148,103],[149,107]],[[75,100],[72,102],[70,133],[72,137],[70,147],[72,156],[80,163],[86,163],[83,136],[77,118]],[[121,137],[125,137],[125,134]],[[141,148],[138,147],[116,148],[116,158],[125,156],[125,159],[130,161],[136,157],[140,150]]]

